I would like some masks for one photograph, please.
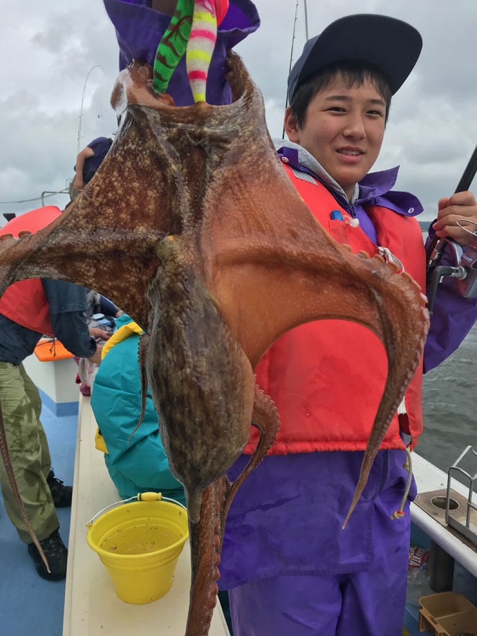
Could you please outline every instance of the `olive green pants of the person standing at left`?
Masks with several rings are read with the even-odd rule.
[[[39,541],[59,527],[46,477],[51,467],[50,450],[39,415],[41,399],[23,364],[0,362],[0,404],[8,450],[26,514]],[[12,493],[3,460],[0,483],[6,511],[21,541],[32,539]]]

